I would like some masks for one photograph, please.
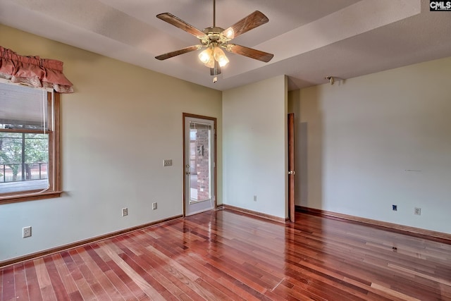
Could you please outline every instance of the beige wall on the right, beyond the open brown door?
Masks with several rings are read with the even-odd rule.
[[[297,204],[451,233],[450,74],[447,58],[290,92]]]

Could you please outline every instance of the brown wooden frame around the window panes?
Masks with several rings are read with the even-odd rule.
[[[46,130],[46,133],[49,135],[49,163],[47,171],[49,178],[49,189],[44,192],[40,192],[41,190],[25,190],[20,192],[0,194],[0,205],[13,202],[32,201],[37,199],[50,199],[53,197],[61,196],[60,94],[58,92],[47,91],[47,106],[48,128]],[[52,123],[53,128],[51,128]],[[0,128],[0,132],[37,133],[35,130],[6,128]]]

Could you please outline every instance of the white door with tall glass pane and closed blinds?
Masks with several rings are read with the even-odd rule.
[[[185,118],[185,215],[214,208],[214,121]]]

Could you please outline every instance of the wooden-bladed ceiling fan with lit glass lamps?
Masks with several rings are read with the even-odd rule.
[[[213,0],[213,26],[206,27],[202,31],[186,23],[184,20],[173,16],[171,13],[160,13],[159,15],[156,15],[156,18],[159,18],[171,25],[174,25],[175,27],[180,28],[181,30],[185,30],[185,32],[188,32],[191,35],[194,35],[194,37],[199,39],[200,44],[171,51],[166,54],[161,54],[159,56],[155,56],[155,59],[163,61],[173,56],[206,48],[199,54],[199,59],[206,67],[210,68],[210,75],[214,75],[213,82],[218,80],[216,75],[221,74],[221,67],[226,66],[229,62],[222,49],[226,49],[226,51],[234,54],[247,56],[251,59],[264,61],[265,63],[268,63],[268,61],[273,59],[273,54],[268,54],[264,51],[230,43],[230,41],[235,37],[238,37],[239,35],[242,35],[255,27],[264,25],[269,21],[268,17],[260,11],[254,11],[254,13],[251,13],[249,16],[239,20],[226,30],[221,27],[216,27],[216,0]]]

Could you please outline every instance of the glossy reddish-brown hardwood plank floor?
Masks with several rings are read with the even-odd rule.
[[[211,211],[0,269],[7,300],[451,300],[451,245]]]

